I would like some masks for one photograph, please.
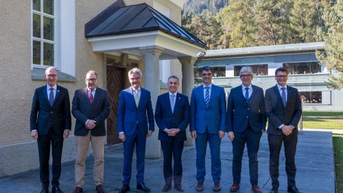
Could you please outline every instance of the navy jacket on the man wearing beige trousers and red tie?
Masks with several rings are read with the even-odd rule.
[[[106,135],[105,120],[110,114],[110,99],[107,91],[97,87],[93,103],[89,102],[87,88],[75,91],[71,113],[76,118],[75,136],[85,136],[88,134],[86,128],[87,120],[95,120],[95,128],[91,129],[91,135]]]

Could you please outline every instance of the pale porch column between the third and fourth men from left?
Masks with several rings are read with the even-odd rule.
[[[155,110],[156,100],[160,93],[160,65],[159,58],[163,52],[161,47],[140,47],[139,48],[144,56],[144,87],[151,94],[152,109]],[[159,159],[161,158],[161,144],[158,141],[158,127],[155,124],[155,131],[152,136],[147,138],[145,150],[145,158]]]

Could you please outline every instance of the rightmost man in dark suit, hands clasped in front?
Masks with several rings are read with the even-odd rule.
[[[265,91],[265,113],[268,116],[268,143],[270,150],[269,172],[272,179],[271,193],[279,189],[279,156],[281,145],[285,147],[287,191],[298,193],[296,188],[296,144],[298,142],[298,122],[302,113],[298,89],[289,87],[287,69],[275,71],[276,86]]]

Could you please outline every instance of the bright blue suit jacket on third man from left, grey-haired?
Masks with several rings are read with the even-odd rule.
[[[118,108],[118,133],[133,135],[138,122],[139,133],[147,133],[147,122],[149,130],[154,130],[154,113],[152,111],[152,102],[150,91],[141,88],[141,98],[139,98],[138,108],[134,102],[132,87],[124,89],[119,94]]]

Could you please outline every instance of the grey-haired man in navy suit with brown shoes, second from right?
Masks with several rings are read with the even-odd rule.
[[[230,191],[237,192],[241,182],[241,158],[244,146],[248,148],[250,183],[252,191],[261,193],[258,183],[257,152],[267,117],[264,110],[263,89],[251,84],[252,68],[239,71],[241,85],[230,90],[227,108],[228,138],[233,144],[233,185]]]

